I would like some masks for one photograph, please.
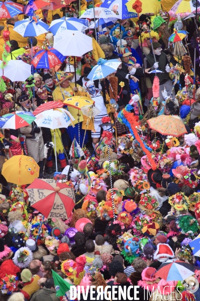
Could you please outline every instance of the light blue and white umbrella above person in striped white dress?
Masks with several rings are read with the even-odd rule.
[[[87,78],[90,80],[105,78],[109,74],[116,71],[118,66],[121,64],[118,60],[109,60],[99,59],[97,65],[93,67],[91,72],[87,75]]]

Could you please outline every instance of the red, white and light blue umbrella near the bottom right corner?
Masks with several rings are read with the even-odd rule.
[[[176,259],[162,263],[154,274],[166,281],[184,280],[194,274],[195,266]]]

